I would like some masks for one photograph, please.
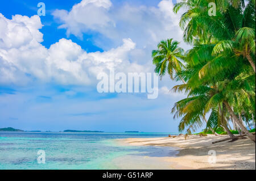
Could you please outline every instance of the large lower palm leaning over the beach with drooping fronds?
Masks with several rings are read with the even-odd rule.
[[[187,63],[186,68],[179,72],[181,77],[188,79],[186,85],[177,85],[175,91],[184,91],[188,93],[188,98],[177,102],[172,109],[175,116],[182,117],[179,130],[188,127],[195,130],[201,126],[200,117],[208,112],[216,112],[216,107],[225,105],[225,108],[232,115],[234,121],[239,125],[244,133],[255,141],[253,136],[238,119],[236,113],[231,109],[231,104],[238,102],[247,102],[246,105],[253,107],[255,105],[255,76],[248,74],[247,65],[236,57],[216,57],[212,55],[214,45],[197,45],[187,53],[184,61]],[[224,61],[226,60],[226,61]],[[220,64],[220,65],[218,65]],[[233,64],[233,66],[231,66]],[[218,68],[215,70],[215,68]],[[221,67],[221,68],[220,68]],[[239,95],[237,98],[236,95]],[[250,98],[250,102],[249,102]],[[224,112],[224,106],[222,106]],[[220,108],[217,114],[222,115]],[[211,113],[211,114],[212,114]],[[210,121],[212,117],[209,118]],[[229,132],[226,126],[226,120],[222,119],[221,123]],[[230,136],[232,136],[230,134]]]

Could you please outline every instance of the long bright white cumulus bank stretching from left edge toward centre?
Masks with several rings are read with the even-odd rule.
[[[115,68],[145,70],[131,63],[129,53],[135,48],[131,39],[105,52],[87,53],[72,40],[60,39],[49,49],[40,42],[43,35],[38,16],[0,16],[0,83],[26,85],[35,79],[61,85],[90,85],[101,71]],[[18,37],[14,36],[18,33]]]

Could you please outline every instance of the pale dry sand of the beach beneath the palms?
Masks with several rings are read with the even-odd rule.
[[[179,153],[168,157],[133,158],[138,162],[134,166],[132,157],[126,158],[126,166],[122,169],[254,169],[255,144],[249,138],[238,139],[234,142],[224,141],[212,144],[228,136],[209,135],[200,137],[193,135],[175,138],[127,138],[119,140],[121,144],[134,146],[171,146]],[[216,163],[209,163],[208,151],[216,151]],[[123,158],[125,159],[125,158]],[[210,159],[212,160],[212,159]],[[129,162],[130,167],[129,167]],[[140,163],[141,162],[141,163]],[[144,165],[143,165],[144,164]]]

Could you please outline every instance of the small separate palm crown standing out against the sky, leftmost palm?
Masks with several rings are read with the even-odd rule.
[[[159,73],[160,78],[168,72],[170,78],[174,79],[174,73],[180,71],[183,68],[181,59],[183,58],[184,50],[178,47],[179,42],[167,39],[166,41],[160,41],[157,50],[152,50],[153,64],[155,64],[155,72]],[[181,81],[185,84],[183,78]]]

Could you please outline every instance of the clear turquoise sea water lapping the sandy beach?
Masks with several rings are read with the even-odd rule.
[[[112,162],[115,158],[159,157],[175,151],[154,146],[122,146],[115,139],[166,136],[168,133],[0,132],[0,169],[119,169]],[[46,153],[46,163],[38,163],[39,150]]]

